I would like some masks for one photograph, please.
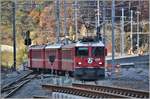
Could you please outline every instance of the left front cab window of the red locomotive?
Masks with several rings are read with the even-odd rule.
[[[86,47],[77,47],[76,48],[76,56],[79,56],[79,57],[88,56],[88,48],[86,48]]]

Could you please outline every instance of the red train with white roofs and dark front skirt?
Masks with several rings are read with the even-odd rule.
[[[105,78],[107,48],[95,39],[70,44],[32,45],[28,49],[28,68],[69,74],[78,80]]]

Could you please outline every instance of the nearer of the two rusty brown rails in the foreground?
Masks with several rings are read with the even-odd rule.
[[[107,92],[99,92],[95,90],[87,90],[85,88],[69,87],[69,86],[57,86],[57,85],[42,85],[43,89],[48,89],[52,92],[60,92],[73,94],[77,96],[89,97],[89,98],[127,98],[123,95],[114,95]]]

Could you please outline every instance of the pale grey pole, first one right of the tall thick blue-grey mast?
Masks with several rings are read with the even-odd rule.
[[[122,10],[121,16],[121,56],[124,54],[124,8]]]

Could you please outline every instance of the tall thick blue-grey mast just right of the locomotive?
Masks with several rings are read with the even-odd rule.
[[[115,70],[115,0],[112,0],[112,70]]]

